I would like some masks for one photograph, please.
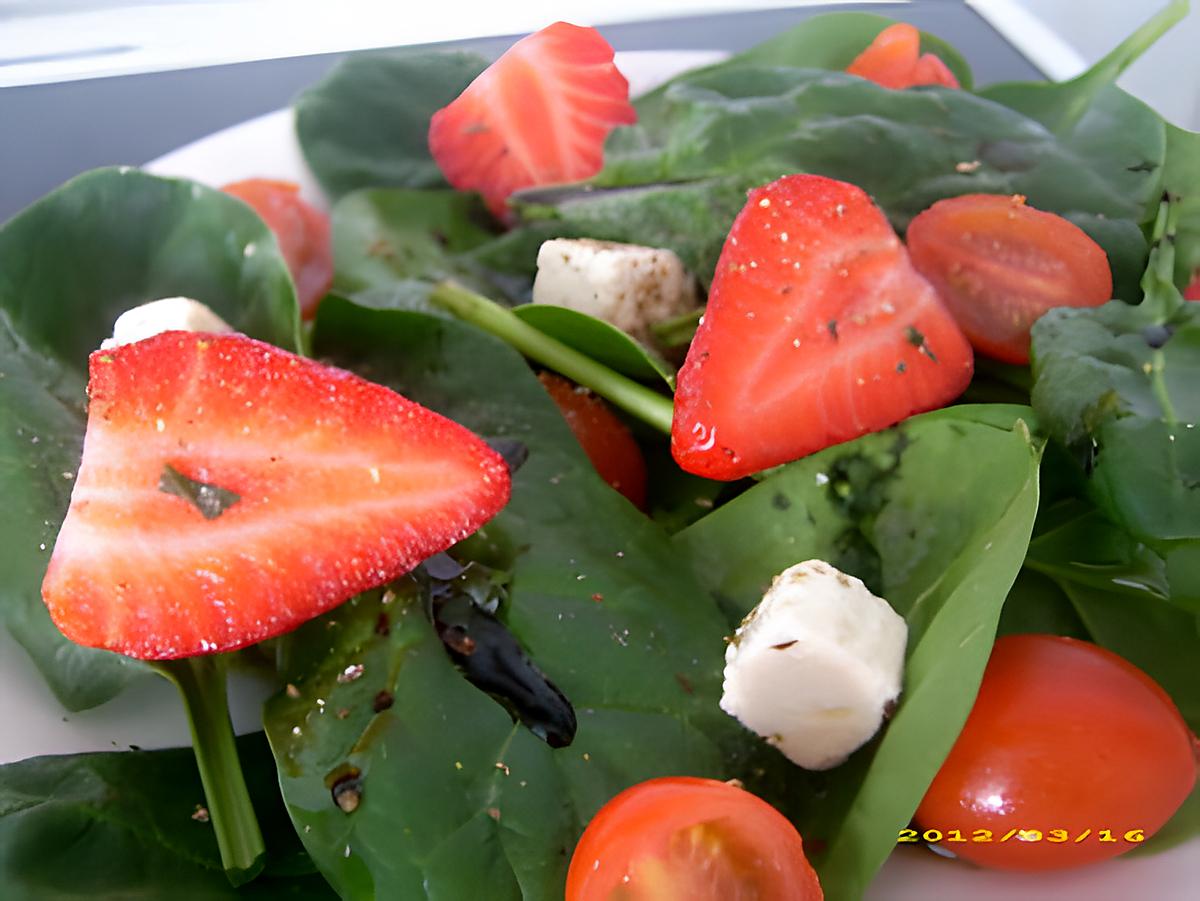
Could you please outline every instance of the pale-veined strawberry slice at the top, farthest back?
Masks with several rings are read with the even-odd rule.
[[[514,191],[600,172],[608,132],[637,121],[612,53],[565,22],[517,41],[433,114],[430,152],[446,180],[503,216]]]

